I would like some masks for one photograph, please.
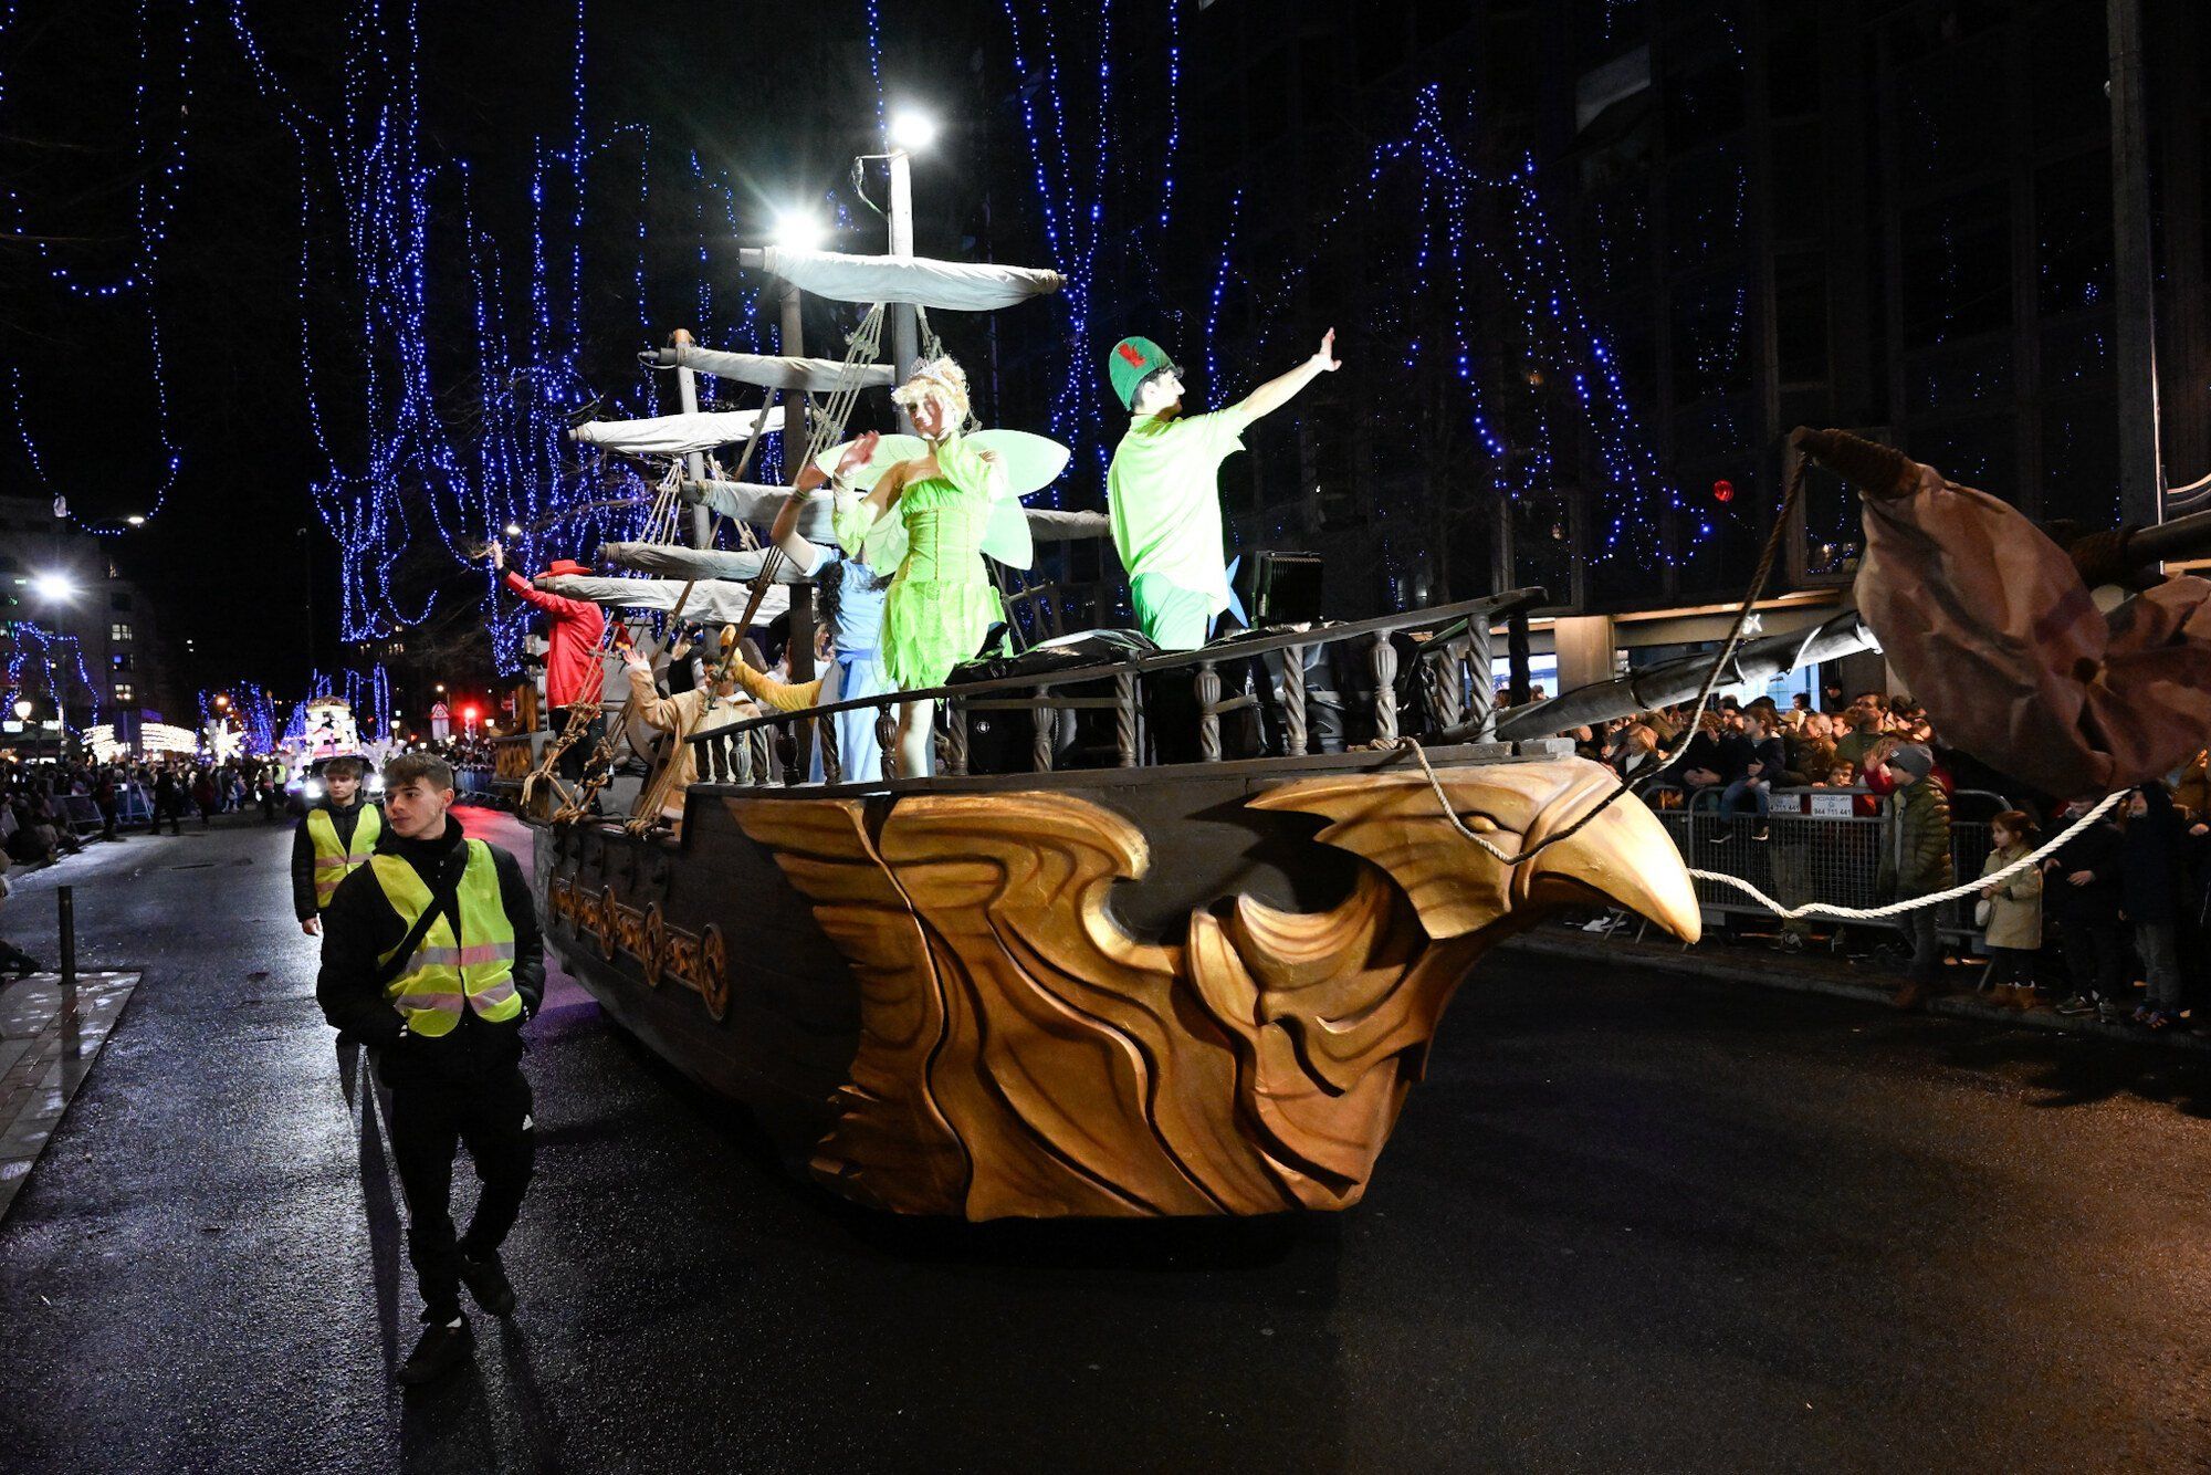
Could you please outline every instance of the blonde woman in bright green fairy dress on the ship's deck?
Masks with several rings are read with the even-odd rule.
[[[1008,493],[997,458],[968,442],[968,385],[957,363],[924,363],[891,398],[913,416],[929,453],[887,469],[865,498],[840,467],[831,480],[836,535],[847,557],[865,557],[878,517],[898,513],[904,522],[907,557],[882,597],[878,659],[891,688],[920,692],[942,686],[1004,619],[982,564],[982,535],[991,504]],[[935,701],[900,705],[900,776],[929,772],[933,723]]]

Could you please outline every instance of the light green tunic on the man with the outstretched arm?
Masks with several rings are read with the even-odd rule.
[[[1136,416],[1106,471],[1112,542],[1136,624],[1161,650],[1196,650],[1229,608],[1220,553],[1220,462],[1243,449],[1251,414]]]

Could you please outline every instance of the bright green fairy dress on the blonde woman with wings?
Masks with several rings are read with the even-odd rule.
[[[942,686],[1002,619],[997,590],[982,566],[991,467],[966,436],[937,444],[937,475],[907,484],[898,517],[907,529],[907,557],[882,597],[878,650],[891,686],[915,692]],[[860,557],[873,522],[867,502],[838,509],[836,535],[847,555]]]

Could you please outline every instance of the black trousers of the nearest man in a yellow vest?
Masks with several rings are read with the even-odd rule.
[[[484,1192],[469,1232],[453,1234],[453,1152],[469,1146]],[[509,1066],[486,1081],[391,1088],[391,1157],[407,1194],[407,1258],[422,1285],[422,1320],[460,1316],[460,1256],[500,1247],[537,1165],[531,1084]]]

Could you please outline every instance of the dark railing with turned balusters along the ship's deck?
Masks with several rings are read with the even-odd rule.
[[[942,710],[940,774],[966,776],[971,759],[971,719],[977,714],[1028,714],[1030,772],[1052,772],[1061,750],[1061,723],[1079,721],[1081,712],[1112,712],[1112,765],[1167,767],[1174,763],[1218,763],[1225,756],[1223,719],[1269,701],[1280,730],[1269,756],[1304,756],[1313,732],[1307,710],[1307,661],[1316,648],[1353,646],[1364,661],[1371,690],[1358,692],[1362,710],[1346,710],[1358,728],[1377,741],[1395,741],[1404,725],[1400,688],[1411,686],[1419,712],[1419,730],[1453,743],[1492,741],[1495,648],[1503,637],[1510,668],[1510,701],[1523,703],[1528,688],[1528,613],[1545,601],[1541,588],[1512,588],[1481,599],[1461,599],[1422,610],[1377,615],[1331,626],[1265,630],[1243,639],[1220,641],[1201,650],[1094,661],[1066,670],[1024,672],[962,686],[935,686],[915,692],[880,692],[849,701],[831,701],[794,712],[761,712],[685,739],[696,750],[699,781],[727,785],[798,785],[807,763],[807,743],[822,756],[822,785],[845,783],[838,754],[836,716],[842,712],[876,712],[876,743],[889,756],[898,750],[898,710],[909,701],[937,701]],[[1402,655],[1395,637],[1417,641],[1411,683],[1400,681]],[[1422,639],[1424,637],[1424,639]],[[1223,670],[1249,672],[1265,657],[1276,657],[1280,674],[1267,674],[1269,697],[1258,690],[1225,692]],[[1190,679],[1187,716],[1194,734],[1161,734],[1152,730],[1145,688]],[[1103,690],[1108,688],[1110,690]],[[1256,686],[1256,683],[1251,683]],[[1068,690],[1088,688],[1088,690]],[[1346,699],[1349,708],[1349,699]],[[1262,714],[1254,714],[1262,716]],[[1068,730],[1072,739],[1072,728]],[[1269,743],[1274,747],[1274,743]],[[1161,752],[1170,756],[1161,756]],[[1174,754],[1194,756],[1174,756]],[[993,770],[1004,772],[1004,770]],[[895,781],[893,781],[895,783]]]

